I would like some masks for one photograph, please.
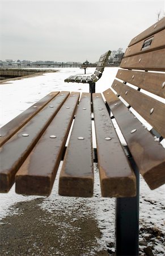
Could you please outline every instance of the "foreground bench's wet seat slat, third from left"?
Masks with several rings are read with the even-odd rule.
[[[16,193],[50,195],[78,99],[78,92],[70,94],[20,167],[16,174]],[[56,138],[50,138],[51,135]]]

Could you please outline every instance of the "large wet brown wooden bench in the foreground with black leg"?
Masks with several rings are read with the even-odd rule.
[[[3,126],[0,191],[15,182],[16,193],[48,196],[63,160],[59,194],[91,197],[97,161],[102,196],[116,197],[116,255],[138,255],[139,172],[151,189],[165,183],[164,38],[165,18],[136,36],[112,87],[92,94],[92,108],[90,93],[79,100],[79,92],[51,92]]]

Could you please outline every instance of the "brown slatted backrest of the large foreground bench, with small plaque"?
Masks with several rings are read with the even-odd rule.
[[[139,171],[154,189],[165,183],[165,151],[158,143],[165,138],[165,18],[131,40],[120,68],[112,84],[115,93],[106,90],[104,96]],[[150,125],[151,133],[132,113],[139,114],[143,126]]]

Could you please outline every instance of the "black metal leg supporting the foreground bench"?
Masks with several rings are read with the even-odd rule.
[[[130,159],[137,179],[137,196],[116,199],[116,255],[137,256],[139,238],[139,171]]]

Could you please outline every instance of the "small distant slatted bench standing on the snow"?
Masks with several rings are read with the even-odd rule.
[[[110,54],[111,54],[111,51],[108,51],[100,56],[100,59],[96,65],[96,70],[92,75],[90,75],[90,76],[79,76],[79,75],[69,76],[64,81],[65,82],[82,82],[83,84],[89,84],[90,92],[95,93],[95,84],[102,76],[104,67],[107,64],[108,57]]]

